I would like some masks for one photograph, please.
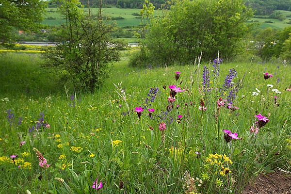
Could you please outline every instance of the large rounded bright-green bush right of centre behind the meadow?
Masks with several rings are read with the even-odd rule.
[[[252,12],[243,0],[175,0],[166,15],[152,22],[146,46],[152,61],[194,62],[201,51],[206,60],[221,51],[231,58],[241,49]]]

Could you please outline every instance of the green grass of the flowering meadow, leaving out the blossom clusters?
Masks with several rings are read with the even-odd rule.
[[[209,98],[210,102],[203,117],[201,117],[201,111],[198,110],[200,98],[203,97],[199,92],[201,89],[198,88],[201,87],[202,66],[200,66],[200,75],[197,75],[198,71],[194,73],[196,67],[187,65],[137,69],[127,65],[128,57],[132,52],[132,50],[123,51],[123,60],[113,65],[112,77],[105,81],[104,87],[94,94],[74,93],[72,89],[65,90],[63,87],[56,87],[58,86],[56,76],[39,68],[41,60],[37,56],[26,54],[1,56],[0,67],[3,71],[0,76],[0,99],[8,97],[9,102],[0,101],[0,157],[16,154],[18,158],[31,162],[32,170],[24,169],[24,167],[18,170],[13,162],[1,163],[3,171],[0,176],[2,184],[0,193],[4,191],[6,193],[25,193],[26,189],[32,193],[45,192],[47,188],[45,172],[38,165],[35,153],[32,151],[33,146],[44,152],[48,163],[51,164],[48,168],[48,176],[49,190],[52,193],[69,193],[65,185],[62,186],[53,179],[55,177],[64,178],[74,193],[82,194],[92,191],[95,178],[98,178],[99,181],[102,178],[102,193],[123,193],[114,186],[114,184],[119,184],[120,179],[124,181],[127,193],[151,193],[152,188],[154,188],[154,193],[185,193],[182,189],[183,182],[178,181],[177,177],[182,178],[183,172],[186,170],[190,170],[190,174],[194,178],[201,177],[201,172],[205,170],[203,161],[208,154],[223,153],[222,147],[225,143],[221,134],[222,129],[230,129],[242,137],[241,140],[229,144],[230,148],[227,148],[225,152],[234,162],[229,165],[233,172],[229,176],[237,179],[235,175],[245,171],[242,166],[249,153],[247,150],[251,149],[249,126],[255,122],[254,114],[257,110],[259,110],[258,113],[268,116],[271,121],[260,129],[257,145],[250,154],[251,158],[246,169],[253,173],[268,169],[268,166],[272,168],[280,166],[285,170],[290,170],[288,163],[290,152],[286,149],[285,143],[285,139],[290,138],[291,132],[289,126],[291,92],[285,91],[291,80],[287,73],[290,72],[290,66],[284,68],[279,65],[277,68],[277,65],[274,64],[260,63],[221,65],[218,86],[223,84],[229,68],[236,68],[239,78],[242,78],[244,73],[246,76],[243,88],[238,94],[240,100],[235,103],[239,110],[234,113],[229,112],[226,108],[221,110],[221,123],[219,124],[221,130],[218,135],[213,117],[216,109],[214,106],[216,97]],[[180,80],[183,80],[183,83],[180,86],[185,89],[190,88],[191,93],[182,92],[177,97],[181,105],[181,108],[178,109],[179,114],[182,114],[183,118],[189,119],[179,125],[176,122],[167,124],[167,141],[164,147],[161,143],[161,132],[158,129],[159,123],[148,119],[146,110],[143,112],[141,121],[137,119],[135,113],[130,114],[132,120],[129,116],[122,116],[122,112],[127,112],[127,108],[124,101],[115,92],[116,88],[113,83],[117,84],[122,81],[122,88],[126,91],[130,110],[145,104],[145,97],[151,87],[159,87],[161,93],[155,99],[152,108],[156,109],[155,113],[160,113],[161,110],[165,110],[169,96],[169,89],[163,90],[162,85],[177,84],[174,78],[175,71],[181,71]],[[262,78],[262,72],[265,71],[272,72],[274,77],[265,81]],[[191,73],[194,73],[192,78]],[[196,80],[196,78],[198,79]],[[191,79],[194,79],[193,87],[191,87]],[[278,82],[277,79],[279,79]],[[237,81],[238,78],[235,80]],[[271,90],[267,90],[266,84],[273,84],[274,88],[281,91],[282,94],[275,94]],[[27,91],[26,88],[29,90]],[[262,91],[262,98],[252,96],[252,92],[256,92],[255,88]],[[70,95],[75,96],[74,100],[70,99]],[[279,107],[274,105],[275,95],[279,97]],[[81,97],[81,101],[79,101],[79,97]],[[113,99],[118,99],[119,102],[116,104]],[[184,103],[189,103],[190,100],[196,103],[189,110],[182,109]],[[75,107],[70,107],[72,102],[76,102]],[[119,107],[119,104],[122,106]],[[6,110],[9,109],[15,115],[11,126],[6,118]],[[46,131],[28,132],[28,127],[37,123],[42,112],[44,112],[45,121],[50,124],[50,128]],[[176,111],[174,114],[176,118]],[[17,125],[18,117],[23,118],[20,126]],[[284,124],[285,120],[287,123]],[[155,130],[147,130],[146,123],[153,126]],[[183,128],[184,125],[185,128]],[[102,130],[93,131],[97,128],[102,128]],[[90,132],[95,133],[98,137],[90,135]],[[176,143],[172,141],[175,139],[173,133],[177,135]],[[53,138],[55,134],[60,134],[60,137]],[[217,147],[218,139],[220,148]],[[122,144],[112,146],[111,143],[114,140],[121,140]],[[21,141],[26,141],[26,143],[19,147],[18,144]],[[180,160],[171,157],[168,149],[174,144],[182,148],[184,141],[185,144],[187,143],[187,151],[183,165],[180,165]],[[142,143],[141,147],[139,142]],[[183,142],[183,144],[178,144],[178,142]],[[60,144],[63,144],[63,148],[57,146]],[[66,146],[66,144],[70,146]],[[146,148],[144,144],[151,148]],[[71,146],[80,146],[83,150],[74,152],[70,150]],[[3,148],[5,148],[5,152]],[[30,156],[22,157],[24,151],[30,152]],[[191,154],[191,151],[202,152],[202,155],[196,157]],[[275,155],[276,152],[280,152],[280,154]],[[95,156],[91,158],[89,155],[92,153]],[[142,153],[142,155],[136,153]],[[65,163],[59,159],[62,154],[65,155],[65,161],[73,164],[64,170],[59,167]],[[90,162],[94,166],[81,162]],[[162,170],[156,171],[156,166],[161,167]],[[37,178],[40,173],[43,174],[42,181]],[[166,176],[166,178],[163,179],[161,176]],[[230,177],[223,178],[226,182],[225,186],[231,185]],[[200,193],[205,193],[207,188],[209,188],[209,181],[204,181],[199,188]],[[217,189],[216,191],[226,193],[226,190]]]

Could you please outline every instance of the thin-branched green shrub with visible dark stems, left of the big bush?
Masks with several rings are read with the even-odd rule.
[[[110,39],[115,26],[109,20],[86,19],[79,0],[61,2],[60,12],[66,18],[58,31],[62,43],[45,49],[46,66],[58,69],[63,81],[72,82],[75,88],[92,92],[109,76],[109,65],[119,60],[118,50],[125,44]]]

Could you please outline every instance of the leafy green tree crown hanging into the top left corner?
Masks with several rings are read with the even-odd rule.
[[[9,41],[14,29],[38,31],[45,7],[44,0],[1,0],[0,40]]]

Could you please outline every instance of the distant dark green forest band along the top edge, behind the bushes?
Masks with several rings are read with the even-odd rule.
[[[80,0],[85,7],[88,6],[88,0]],[[156,9],[161,8],[167,0],[148,0],[153,3]],[[119,8],[143,8],[145,0],[102,0],[102,6],[108,7],[110,5]],[[255,15],[270,15],[275,10],[291,11],[291,0],[246,0],[246,5],[250,6]],[[89,0],[90,7],[98,7],[99,0]],[[54,0],[49,0],[49,7],[57,7],[58,4]]]

